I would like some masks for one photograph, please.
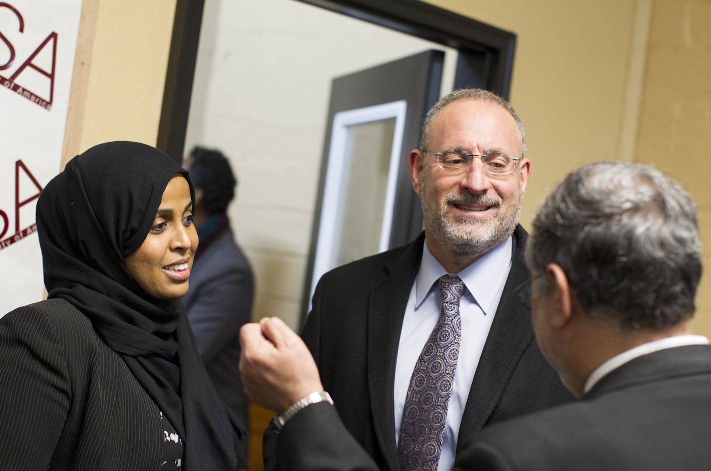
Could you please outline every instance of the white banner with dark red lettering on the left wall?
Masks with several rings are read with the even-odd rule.
[[[0,316],[42,299],[35,207],[60,166],[81,6],[0,1]]]

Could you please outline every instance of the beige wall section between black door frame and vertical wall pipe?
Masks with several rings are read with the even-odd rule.
[[[620,156],[634,0],[429,0],[516,36],[510,101],[533,162],[522,224],[570,170]]]

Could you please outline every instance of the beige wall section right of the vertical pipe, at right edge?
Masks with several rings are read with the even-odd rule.
[[[655,0],[651,20],[635,160],[697,202],[706,274],[693,327],[711,337],[711,1]]]

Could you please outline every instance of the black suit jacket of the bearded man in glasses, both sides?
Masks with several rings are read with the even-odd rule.
[[[458,452],[471,433],[488,423],[572,399],[540,354],[530,312],[513,293],[529,276],[523,261],[527,237],[522,227],[516,227],[513,263],[471,384]],[[325,274],[301,332],[344,425],[386,470],[397,470],[395,362],[423,244],[424,233],[405,247]],[[288,463],[284,465],[288,469]]]

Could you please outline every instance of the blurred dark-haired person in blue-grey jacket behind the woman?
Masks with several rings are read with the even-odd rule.
[[[195,187],[193,222],[200,247],[190,288],[182,301],[215,389],[249,429],[249,401],[237,362],[239,330],[250,322],[254,278],[226,214],[235,196],[237,179],[228,159],[217,150],[196,146],[186,156],[184,166]]]

